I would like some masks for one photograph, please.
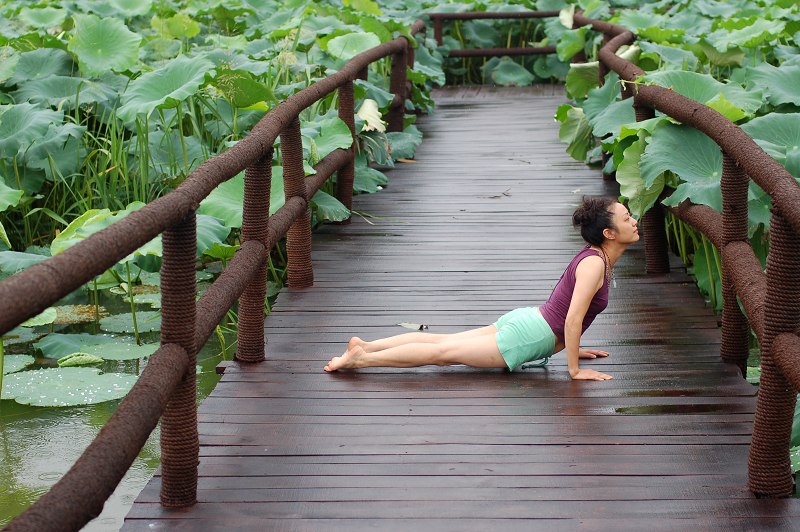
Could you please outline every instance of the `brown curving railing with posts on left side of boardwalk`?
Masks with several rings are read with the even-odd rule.
[[[423,31],[416,21],[411,35]],[[390,131],[402,131],[409,95],[407,66],[413,49],[398,37],[367,50],[337,73],[291,96],[259,121],[228,151],[209,159],[169,194],[128,215],[63,253],[0,282],[0,334],[69,294],[119,260],[163,234],[161,347],[98,436],[72,468],[26,512],[4,530],[77,530],[102,510],[159,419],[162,423],[161,503],[193,504],[197,492],[196,351],[228,309],[240,299],[241,362],[264,360],[264,303],[269,251],[287,237],[290,286],[304,286],[309,276],[310,218],[308,199],[338,172],[337,197],[350,208],[355,147],[337,149],[319,161],[306,179],[298,116],[305,108],[339,91],[339,116],[355,142],[353,81],[368,66],[392,56],[390,89],[395,98],[387,116]],[[282,137],[286,201],[269,213],[272,147]],[[195,303],[196,221],[194,212],[223,181],[245,171],[242,245],[225,271]],[[310,274],[313,276],[313,273]]]

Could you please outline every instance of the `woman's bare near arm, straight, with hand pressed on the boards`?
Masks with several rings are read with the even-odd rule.
[[[605,262],[598,256],[586,257],[575,270],[575,290],[564,323],[564,343],[567,348],[567,368],[573,379],[608,380],[611,375],[593,369],[581,369],[579,365],[580,342],[583,318],[592,298],[603,285]]]

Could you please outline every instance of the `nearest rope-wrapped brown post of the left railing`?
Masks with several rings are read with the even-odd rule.
[[[197,501],[197,346],[195,330],[194,213],[164,231],[161,264],[161,345],[177,344],[189,357],[186,374],[175,388],[161,418],[161,504],[183,508]]]

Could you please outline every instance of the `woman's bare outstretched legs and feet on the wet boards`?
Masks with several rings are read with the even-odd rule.
[[[466,364],[476,368],[505,368],[494,333],[467,336],[438,343],[407,343],[380,351],[368,352],[361,346],[334,357],[325,371],[338,369]]]

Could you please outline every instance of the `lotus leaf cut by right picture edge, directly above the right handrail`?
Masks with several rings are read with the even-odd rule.
[[[745,133],[800,179],[800,113],[772,113],[743,124]]]

